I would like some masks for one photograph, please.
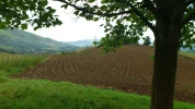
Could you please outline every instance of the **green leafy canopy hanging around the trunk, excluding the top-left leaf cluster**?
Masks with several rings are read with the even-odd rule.
[[[117,48],[121,43],[116,43],[122,37],[141,37],[144,32],[150,28],[156,31],[154,23],[158,17],[158,11],[156,5],[163,4],[163,7],[173,5],[176,1],[171,3],[161,2],[159,0],[101,0],[101,3],[96,0],[54,0],[60,1],[64,4],[64,9],[68,7],[74,8],[73,14],[77,16],[85,17],[89,21],[105,20],[105,24],[102,24],[105,28],[106,38],[113,40],[111,48]],[[168,0],[169,1],[169,0]],[[185,13],[181,22],[181,36],[179,47],[191,47],[191,39],[195,34],[194,19],[195,19],[195,1],[186,0]],[[169,14],[164,10],[164,14]],[[175,9],[176,10],[176,9]],[[170,11],[171,14],[171,11]],[[104,44],[104,43],[103,43]],[[102,44],[102,45],[103,45]]]

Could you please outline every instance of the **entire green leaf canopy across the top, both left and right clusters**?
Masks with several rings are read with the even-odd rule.
[[[89,21],[105,20],[102,24],[105,28],[106,39],[113,40],[113,47],[118,47],[122,37],[140,37],[147,28],[154,31],[154,22],[158,16],[154,4],[158,0],[54,0],[62,2],[61,8],[74,8],[73,14],[85,17]],[[165,4],[171,7],[172,3]],[[192,37],[195,34],[195,1],[186,0],[185,13],[181,23],[180,47],[191,47]],[[21,27],[27,28],[32,24],[34,29],[60,25],[61,22],[55,15],[56,10],[47,7],[47,0],[1,0],[0,1],[0,28]],[[168,8],[169,9],[169,8]],[[164,10],[165,12],[165,10]]]

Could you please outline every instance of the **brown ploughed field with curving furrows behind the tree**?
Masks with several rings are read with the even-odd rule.
[[[117,52],[89,49],[81,53],[54,56],[34,69],[11,77],[69,81],[150,95],[153,48],[124,46]],[[179,57],[175,99],[195,104],[195,61]]]

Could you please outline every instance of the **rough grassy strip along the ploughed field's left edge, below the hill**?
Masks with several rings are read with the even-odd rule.
[[[8,80],[8,75],[32,69],[36,63],[41,63],[48,58],[47,55],[16,56],[18,58],[15,58],[15,55],[7,55],[7,57],[9,57],[9,60],[0,61],[0,82]]]

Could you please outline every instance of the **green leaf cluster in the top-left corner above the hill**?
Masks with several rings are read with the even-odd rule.
[[[56,10],[47,3],[47,0],[1,0],[0,29],[26,29],[27,24],[32,24],[34,29],[60,25]]]

